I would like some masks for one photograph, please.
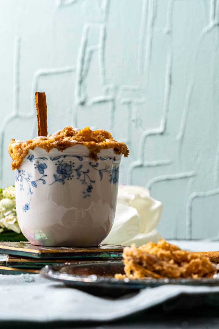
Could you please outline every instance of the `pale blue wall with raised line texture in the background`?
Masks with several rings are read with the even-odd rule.
[[[0,0],[1,186],[11,137],[37,135],[35,90],[49,133],[127,143],[120,183],[164,203],[166,238],[218,235],[219,1]]]

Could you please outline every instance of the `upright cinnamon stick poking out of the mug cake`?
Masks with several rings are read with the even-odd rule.
[[[35,92],[38,136],[47,136],[47,106],[45,92]]]

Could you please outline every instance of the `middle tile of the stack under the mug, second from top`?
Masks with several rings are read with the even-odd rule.
[[[113,260],[115,258],[107,258],[108,260]],[[39,259],[39,258],[29,258],[29,257],[19,257],[19,256],[12,256],[8,255],[6,265],[15,268],[31,268],[31,269],[40,269],[46,265],[60,265],[60,264],[76,264],[76,263],[96,263],[99,262],[99,259]],[[1,265],[1,264],[0,264]]]

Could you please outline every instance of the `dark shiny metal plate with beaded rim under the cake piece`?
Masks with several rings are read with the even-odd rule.
[[[124,273],[123,267],[124,265],[121,261],[98,261],[95,263],[78,262],[77,264],[66,263],[64,265],[45,266],[41,269],[40,274],[44,278],[59,281],[67,286],[87,291],[98,296],[119,296],[143,288],[158,287],[161,285],[219,285],[219,274],[215,274],[213,278],[200,279],[115,279],[114,275],[116,273]]]

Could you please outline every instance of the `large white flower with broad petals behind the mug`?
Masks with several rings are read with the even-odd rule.
[[[162,203],[150,197],[141,186],[121,185],[113,227],[103,243],[137,247],[148,241],[157,242],[161,236],[156,227],[162,213]]]

